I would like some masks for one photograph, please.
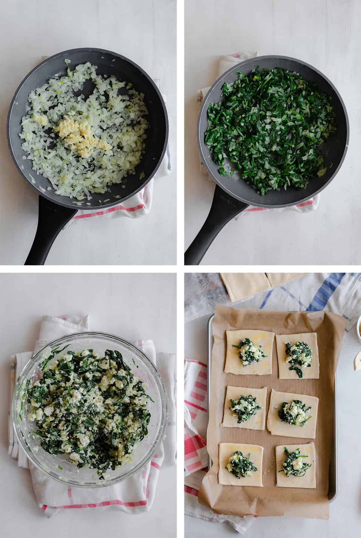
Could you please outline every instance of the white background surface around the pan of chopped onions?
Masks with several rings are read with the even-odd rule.
[[[99,47],[123,54],[160,79],[160,90],[167,96],[173,172],[155,180],[148,215],[137,220],[78,221],[60,233],[46,263],[175,264],[175,0],[11,0],[1,2],[1,6],[0,264],[24,263],[38,221],[38,195],[17,171],[6,141],[12,96],[42,56],[75,47]]]

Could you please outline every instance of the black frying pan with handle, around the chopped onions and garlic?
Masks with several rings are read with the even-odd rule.
[[[68,65],[64,62],[65,59],[70,60]],[[39,63],[29,75],[26,75],[16,90],[11,101],[6,125],[11,157],[25,181],[39,193],[38,228],[25,265],[43,265],[45,263],[56,236],[79,209],[78,206],[72,203],[74,199],[54,194],[53,188],[52,190],[47,190],[47,187],[51,187],[51,183],[42,175],[37,175],[33,171],[30,159],[22,159],[26,153],[22,150],[23,140],[19,137],[19,133],[22,131],[22,117],[27,113],[27,97],[32,90],[43,86],[54,75],[65,74],[68,67],[74,69],[79,63],[85,62],[96,65],[97,74],[115,76],[118,80],[131,82],[133,88],[139,93],[145,94],[144,102],[149,112],[147,121],[150,123],[150,128],[146,132],[146,151],[136,168],[136,174],[128,176],[126,182],[112,185],[110,193],[94,194],[89,201],[90,206],[87,206],[84,202],[79,207],[81,209],[104,209],[128,200],[152,179],[166,151],[168,117],[164,101],[151,77],[136,63],[120,54],[105,51],[102,48],[74,48],[54,54],[54,56]],[[90,87],[90,84],[87,87],[85,83],[82,90],[84,96],[88,97],[92,92],[93,87]],[[141,172],[145,174],[143,180],[139,180]],[[35,179],[35,184],[31,182],[29,174]],[[124,185],[125,188],[123,188]],[[114,196],[120,197],[116,199]],[[110,201],[104,202],[108,198]],[[99,203],[99,200],[103,203]],[[88,201],[86,200],[86,202]]]

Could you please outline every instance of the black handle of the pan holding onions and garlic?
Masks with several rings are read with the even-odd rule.
[[[38,228],[24,265],[44,265],[58,233],[74,217],[76,211],[39,196]]]

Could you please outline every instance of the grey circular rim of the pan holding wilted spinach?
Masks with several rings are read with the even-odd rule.
[[[342,106],[342,109],[343,109],[343,112],[344,112],[344,116],[345,116],[345,122],[346,122],[346,143],[345,143],[344,151],[343,151],[343,154],[342,154],[342,158],[339,161],[339,164],[335,168],[334,173],[331,175],[330,179],[326,183],[324,183],[324,185],[321,188],[315,190],[311,195],[308,195],[306,197],[302,197],[296,202],[291,202],[291,203],[288,202],[288,203],[282,203],[282,204],[277,204],[277,205],[255,203],[253,201],[250,202],[249,200],[246,200],[245,198],[243,198],[241,196],[237,196],[237,195],[233,194],[228,188],[226,188],[223,185],[222,180],[220,178],[217,178],[217,176],[213,173],[213,171],[210,169],[210,167],[207,164],[206,156],[205,156],[205,154],[203,152],[203,147],[202,147],[202,144],[201,144],[201,136],[204,136],[204,133],[201,134],[201,132],[200,132],[201,118],[202,118],[202,116],[204,114],[204,109],[206,108],[206,104],[207,104],[207,101],[209,99],[209,96],[211,95],[211,93],[212,93],[213,89],[215,88],[215,86],[224,77],[228,76],[231,72],[234,72],[235,69],[239,69],[241,66],[244,66],[247,63],[250,63],[251,61],[273,59],[273,58],[274,59],[281,59],[281,60],[291,60],[291,61],[294,61],[296,63],[299,63],[300,65],[306,66],[306,67],[312,69],[313,71],[315,71],[316,73],[318,73],[318,75],[320,75],[329,84],[329,86],[332,88],[332,90],[334,90],[336,96],[338,97],[339,102],[341,103],[341,106]],[[207,105],[207,108],[208,108],[208,105]],[[206,110],[206,113],[207,113],[207,110]],[[247,60],[244,60],[242,62],[237,63],[237,65],[235,65],[235,66],[231,67],[230,69],[226,70],[226,72],[223,73],[223,75],[221,75],[220,77],[218,77],[218,79],[214,82],[214,84],[212,84],[212,86],[210,87],[210,89],[207,92],[206,97],[204,97],[204,99],[203,99],[203,102],[202,102],[202,105],[201,105],[201,108],[200,108],[200,111],[199,111],[199,114],[198,114],[198,118],[197,118],[197,133],[196,134],[197,134],[197,144],[198,144],[198,149],[199,149],[199,153],[200,153],[200,156],[201,156],[202,164],[207,168],[207,171],[208,171],[209,175],[211,176],[211,178],[216,182],[216,184],[218,186],[221,187],[222,190],[224,190],[224,192],[226,192],[232,198],[234,198],[236,200],[239,200],[240,202],[243,202],[243,203],[245,203],[245,204],[247,204],[249,206],[252,206],[252,207],[262,207],[262,208],[268,208],[268,209],[277,209],[277,208],[282,208],[282,207],[296,206],[297,204],[306,202],[306,201],[310,200],[312,197],[316,196],[325,187],[327,187],[329,185],[329,183],[335,178],[337,172],[341,168],[341,166],[343,164],[343,161],[344,161],[344,159],[346,157],[346,152],[348,150],[349,138],[350,138],[350,124],[349,124],[349,117],[348,117],[348,114],[347,114],[347,110],[346,110],[345,104],[343,102],[343,99],[342,99],[341,95],[339,94],[339,91],[337,90],[335,85],[328,79],[328,77],[325,76],[319,69],[317,69],[316,67],[310,65],[310,63],[304,62],[302,60],[298,60],[297,58],[292,58],[292,56],[284,56],[284,55],[281,55],[281,54],[264,54],[262,56],[254,56],[254,58],[249,58]],[[302,193],[302,190],[300,190],[300,193]]]

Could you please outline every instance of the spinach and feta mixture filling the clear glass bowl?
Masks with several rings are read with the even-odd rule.
[[[78,468],[97,469],[104,479],[107,470],[132,461],[148,434],[152,399],[119,351],[99,356],[67,347],[54,349],[39,363],[42,377],[27,383],[28,417],[44,450],[67,454]]]

